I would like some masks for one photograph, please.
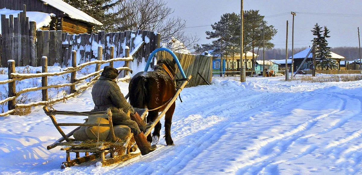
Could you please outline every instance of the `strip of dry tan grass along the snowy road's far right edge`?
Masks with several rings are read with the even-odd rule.
[[[301,75],[293,78],[300,82],[339,82],[339,81],[358,81],[362,80],[362,75],[332,75],[332,76],[317,76],[312,77],[311,75]]]

